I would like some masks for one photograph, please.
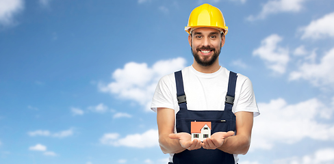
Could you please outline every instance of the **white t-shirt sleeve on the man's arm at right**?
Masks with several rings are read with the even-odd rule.
[[[255,94],[253,90],[253,84],[248,77],[242,83],[240,90],[240,97],[235,105],[235,112],[238,111],[249,111],[254,113],[254,117],[259,115],[259,109],[255,100]]]

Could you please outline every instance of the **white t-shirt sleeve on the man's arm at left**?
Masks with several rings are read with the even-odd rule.
[[[170,75],[162,77],[155,89],[151,109],[155,112],[157,112],[158,107],[174,109],[172,90],[172,79],[170,79]]]

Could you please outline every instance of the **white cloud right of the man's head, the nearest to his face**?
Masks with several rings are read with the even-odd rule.
[[[290,57],[289,49],[277,45],[281,41],[280,36],[272,34],[261,41],[261,46],[253,51],[253,55],[263,59],[266,66],[274,72],[283,74]]]

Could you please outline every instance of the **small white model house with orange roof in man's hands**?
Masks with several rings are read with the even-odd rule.
[[[211,122],[191,122],[192,140],[203,139],[211,137]]]

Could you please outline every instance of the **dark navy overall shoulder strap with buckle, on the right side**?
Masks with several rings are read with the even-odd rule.
[[[235,96],[235,85],[237,83],[237,74],[230,71],[229,74],[229,85],[227,87],[227,94],[225,97],[225,111],[232,111],[234,96]]]

